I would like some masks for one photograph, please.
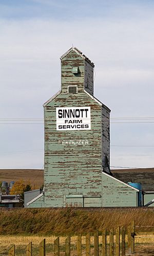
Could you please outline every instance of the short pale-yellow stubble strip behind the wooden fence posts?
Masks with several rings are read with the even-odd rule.
[[[4,236],[1,235],[0,236],[0,253],[3,254],[7,254],[9,248],[15,244],[15,248],[16,248],[16,255],[24,255],[25,254],[25,250],[26,250],[26,246],[29,244],[29,242],[32,242],[33,245],[33,255],[35,255],[35,253],[37,254],[38,250],[39,250],[39,244],[40,242],[43,240],[44,236],[37,236],[37,235],[32,235],[32,236]],[[52,255],[53,254],[53,242],[56,238],[56,236],[46,236],[46,248],[47,248],[47,253],[46,255]],[[65,250],[65,239],[66,237],[60,237],[60,245],[61,245],[61,254],[64,253]],[[73,256],[73,254],[75,255],[76,253],[76,240],[77,237],[76,236],[72,236],[71,237],[71,255]],[[127,241],[127,237],[126,237],[126,241]],[[115,242],[115,237],[114,237],[114,242]],[[152,255],[150,254],[152,250],[154,250],[153,245],[154,245],[154,235],[140,235],[137,236],[135,239],[135,248],[137,251],[137,254],[135,253],[134,255]],[[82,237],[82,244],[83,246],[85,246],[85,236]],[[91,245],[94,244],[93,241],[93,237],[91,237]],[[102,244],[102,236],[99,236],[99,244]],[[109,246],[109,236],[107,236],[107,244]],[[84,247],[85,248],[85,247]],[[84,249],[83,248],[83,253],[84,253]],[[147,253],[149,249],[149,254]],[[101,250],[101,248],[100,248]],[[145,251],[147,254],[145,254]],[[91,248],[91,252],[93,252],[93,248]],[[140,254],[139,254],[140,252]],[[141,254],[142,253],[142,254]],[[91,255],[93,255],[93,253],[91,253]]]

